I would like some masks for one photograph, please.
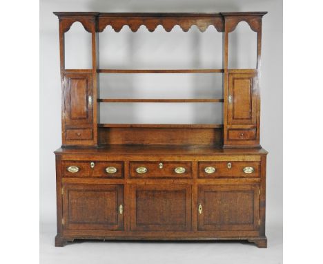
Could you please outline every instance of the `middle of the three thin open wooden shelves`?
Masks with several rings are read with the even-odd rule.
[[[220,99],[98,99],[100,103],[222,103]]]

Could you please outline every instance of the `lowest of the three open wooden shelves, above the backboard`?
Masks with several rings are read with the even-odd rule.
[[[97,124],[99,127],[135,127],[166,129],[220,129],[223,124]]]

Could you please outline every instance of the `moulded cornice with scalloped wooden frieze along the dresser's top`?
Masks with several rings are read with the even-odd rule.
[[[195,25],[201,32],[213,25],[218,32],[231,32],[240,21],[246,21],[251,29],[260,32],[262,17],[267,12],[219,12],[219,13],[100,13],[100,12],[54,12],[59,17],[62,32],[79,21],[88,32],[102,32],[110,25],[119,32],[128,25],[136,32],[141,25],[153,32],[158,25],[170,32],[178,25],[187,32]]]

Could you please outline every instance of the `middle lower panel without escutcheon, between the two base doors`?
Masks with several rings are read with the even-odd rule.
[[[190,185],[134,185],[130,202],[133,231],[190,230]]]

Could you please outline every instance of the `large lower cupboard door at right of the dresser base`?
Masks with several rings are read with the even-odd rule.
[[[258,185],[199,185],[199,230],[257,230],[260,219]]]

